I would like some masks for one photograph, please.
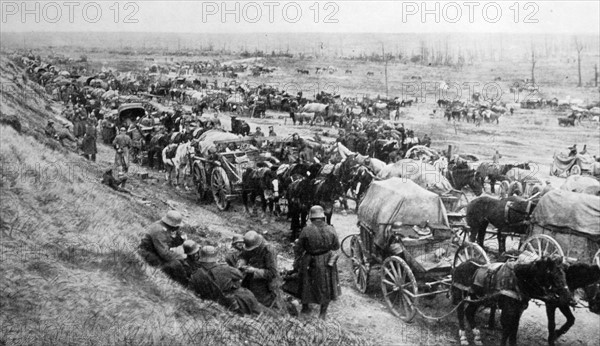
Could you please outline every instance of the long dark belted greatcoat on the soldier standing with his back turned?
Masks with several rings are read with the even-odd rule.
[[[328,265],[340,242],[333,226],[323,220],[312,221],[298,238],[304,252],[300,259],[299,296],[302,304],[327,304],[342,293],[337,264]]]

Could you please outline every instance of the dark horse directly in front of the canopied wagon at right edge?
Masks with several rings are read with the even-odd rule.
[[[511,196],[502,200],[489,196],[475,198],[467,205],[467,225],[471,229],[469,238],[483,247],[487,226],[491,223],[498,229],[498,252],[506,250],[505,232],[525,234],[527,221],[537,205],[537,201]]]

